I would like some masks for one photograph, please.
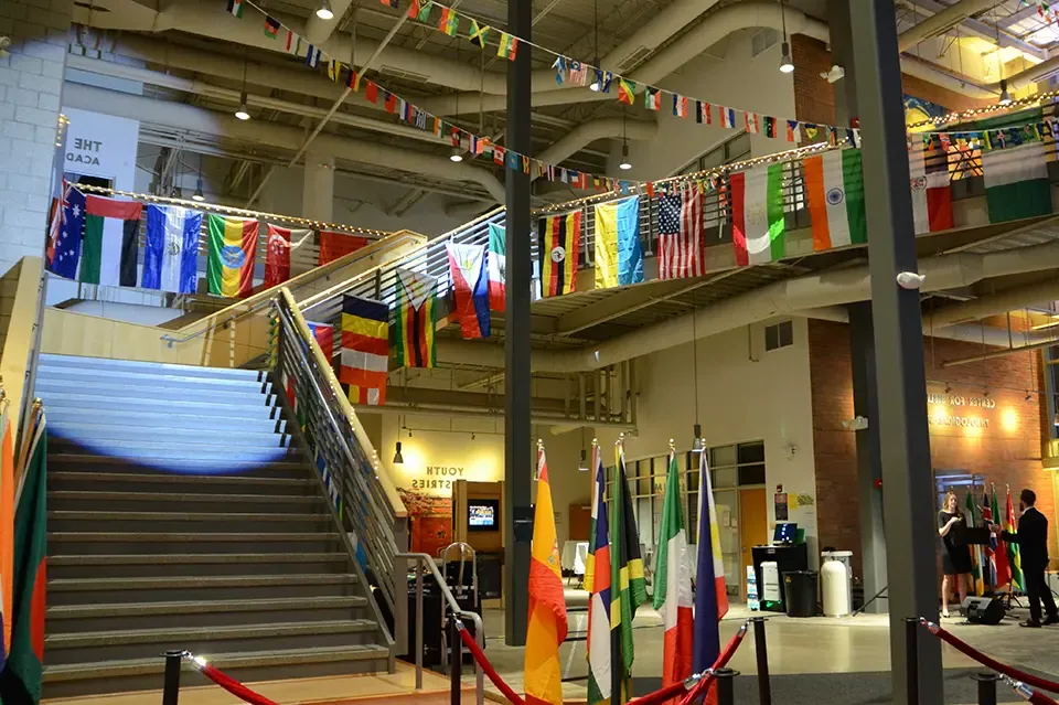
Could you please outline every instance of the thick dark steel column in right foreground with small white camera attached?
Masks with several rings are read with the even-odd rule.
[[[849,9],[864,130],[882,509],[891,548],[886,556],[890,665],[894,702],[906,705],[910,674],[905,618],[938,616],[923,334],[919,292],[897,284],[898,274],[916,271],[917,261],[894,0],[849,0]],[[938,640],[920,642],[918,666],[921,702],[943,702]]]

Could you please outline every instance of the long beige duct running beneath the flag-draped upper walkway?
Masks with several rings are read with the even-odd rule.
[[[984,255],[940,255],[922,259],[919,265],[919,273],[926,275],[921,291],[959,289],[987,278],[1059,268],[1059,242]],[[864,301],[871,296],[870,286],[867,265],[796,277],[598,344],[569,350],[534,350],[531,364],[535,372],[560,374],[597,370],[691,342],[693,334],[708,338],[777,316]],[[503,348],[489,343],[438,341],[438,360],[452,364],[473,361],[479,365],[504,367]]]

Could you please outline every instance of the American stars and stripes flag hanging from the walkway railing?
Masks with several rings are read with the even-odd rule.
[[[678,194],[659,196],[659,279],[700,277],[703,261],[703,194],[695,184]]]

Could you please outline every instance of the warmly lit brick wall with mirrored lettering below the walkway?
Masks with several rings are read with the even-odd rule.
[[[813,446],[816,461],[816,509],[820,545],[854,551],[854,570],[860,574],[859,506],[856,490],[856,441],[854,431],[842,427],[853,418],[853,367],[849,327],[843,323],[809,322],[810,374],[812,378]],[[954,415],[988,420],[988,428],[964,428],[932,423],[930,459],[935,470],[965,470],[981,473],[996,483],[1003,496],[1005,485],[1013,499],[1028,487],[1037,492],[1037,508],[1052,522],[1051,555],[1056,549],[1057,517],[1051,472],[1042,469],[1040,440],[1046,409],[1031,391],[1042,388],[1040,357],[1021,353],[988,361],[941,367],[941,362],[995,350],[977,343],[924,339],[928,393],[982,398],[987,388],[996,408],[930,405],[928,412],[940,420]],[[1027,399],[1027,396],[1029,397]],[[961,504],[963,496],[960,498]],[[1002,499],[1003,504],[1003,499]]]

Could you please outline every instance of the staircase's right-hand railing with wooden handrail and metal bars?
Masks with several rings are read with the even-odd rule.
[[[342,393],[334,371],[286,288],[276,298],[275,382],[331,499],[341,534],[354,563],[371,570],[394,613],[397,590],[394,557],[407,546],[408,515],[397,490],[378,467],[372,444]],[[357,551],[346,533],[352,528]],[[400,599],[406,599],[404,592]],[[384,620],[371,591],[379,623]]]

